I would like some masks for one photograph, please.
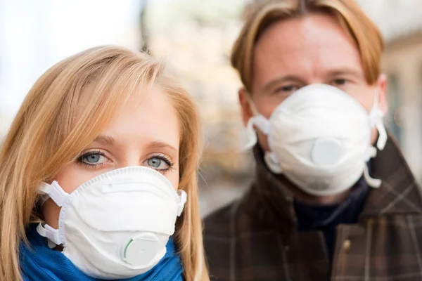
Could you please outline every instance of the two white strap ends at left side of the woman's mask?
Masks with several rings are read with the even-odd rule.
[[[51,185],[48,183],[41,183],[39,191],[46,195],[46,198],[50,197],[58,205],[58,207],[62,207],[66,198],[69,196],[69,193],[65,192],[57,181],[53,181]],[[42,223],[39,223],[37,226],[37,232],[39,235],[46,237],[56,245],[60,245],[65,242],[62,235],[60,235],[60,231],[52,228],[48,224],[43,225]]]

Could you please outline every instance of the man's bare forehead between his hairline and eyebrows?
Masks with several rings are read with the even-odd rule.
[[[276,22],[262,34],[255,47],[254,77],[280,67],[298,72],[363,71],[357,46],[328,15]]]

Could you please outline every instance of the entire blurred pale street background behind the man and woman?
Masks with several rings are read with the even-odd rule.
[[[59,60],[92,46],[149,50],[196,98],[205,126],[203,215],[241,196],[254,164],[229,65],[246,0],[0,0],[0,137],[32,84]],[[422,1],[359,0],[386,42],[385,124],[422,181]]]

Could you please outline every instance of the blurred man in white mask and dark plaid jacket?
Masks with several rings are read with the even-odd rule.
[[[352,0],[259,1],[231,55],[256,178],[205,219],[213,280],[422,280],[422,200]]]

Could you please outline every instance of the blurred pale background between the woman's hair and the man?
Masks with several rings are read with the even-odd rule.
[[[241,83],[229,64],[242,10],[243,0],[154,0],[143,20],[151,52],[166,61],[200,109],[205,133],[200,169],[203,214],[240,195],[252,176],[251,155],[241,152]]]

